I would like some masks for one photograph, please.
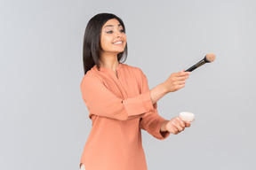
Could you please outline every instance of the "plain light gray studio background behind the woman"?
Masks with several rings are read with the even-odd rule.
[[[148,170],[253,169],[256,158],[253,0],[1,0],[0,169],[78,170],[91,120],[80,92],[89,19],[113,12],[127,28],[125,64],[149,88],[216,54],[186,88],[158,101],[196,121],[164,141],[143,132]]]

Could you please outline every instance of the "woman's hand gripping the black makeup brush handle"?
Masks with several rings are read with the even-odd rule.
[[[178,73],[172,73],[171,76],[164,81],[164,88],[168,93],[184,88],[190,73],[191,72],[185,72],[185,70]]]

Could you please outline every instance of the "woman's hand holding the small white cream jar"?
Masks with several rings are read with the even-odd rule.
[[[182,132],[185,128],[190,127],[190,122],[189,121],[183,121],[180,119],[179,116],[172,118],[172,120],[166,120],[164,121],[161,131],[168,131],[174,135],[179,134]]]

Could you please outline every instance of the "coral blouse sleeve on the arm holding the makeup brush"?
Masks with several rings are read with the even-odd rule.
[[[94,114],[116,120],[130,120],[154,111],[149,91],[132,98],[116,97],[99,77],[92,74],[84,75],[80,88],[91,119]]]

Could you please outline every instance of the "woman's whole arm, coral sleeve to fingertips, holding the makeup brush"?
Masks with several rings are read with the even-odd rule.
[[[130,120],[140,117],[145,112],[154,112],[156,101],[171,91],[183,88],[188,74],[184,71],[172,73],[156,88],[145,91],[138,97],[125,99],[116,97],[98,77],[92,75],[84,76],[80,88],[90,116],[95,114],[116,120]]]

